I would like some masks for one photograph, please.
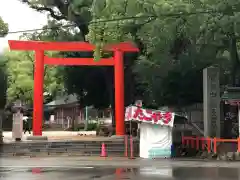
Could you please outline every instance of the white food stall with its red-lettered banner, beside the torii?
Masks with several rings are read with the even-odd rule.
[[[129,106],[125,121],[140,122],[140,157],[171,157],[174,113]]]

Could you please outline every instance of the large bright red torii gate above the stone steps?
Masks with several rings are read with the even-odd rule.
[[[115,83],[115,118],[116,135],[124,135],[124,52],[138,52],[131,43],[123,42],[109,45],[106,51],[114,51],[113,58],[52,58],[44,55],[44,51],[93,51],[95,46],[86,42],[42,42],[9,40],[11,50],[35,51],[34,95],[33,95],[33,135],[42,136],[43,120],[43,78],[44,65],[80,65],[80,66],[114,66]]]

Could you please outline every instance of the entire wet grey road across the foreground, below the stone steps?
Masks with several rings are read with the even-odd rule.
[[[0,165],[4,180],[240,180],[240,162],[16,157]]]

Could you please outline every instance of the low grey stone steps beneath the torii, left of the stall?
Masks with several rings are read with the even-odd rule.
[[[5,133],[6,136],[0,156],[99,156],[101,154],[102,142],[105,143],[108,155],[124,156],[123,137],[79,136],[71,135],[70,133],[44,132],[43,135],[47,135],[48,140],[26,140],[29,136],[29,134],[26,134],[23,135],[23,140],[20,142],[15,142],[11,137],[11,133]],[[134,154],[138,156],[138,151],[134,151]]]

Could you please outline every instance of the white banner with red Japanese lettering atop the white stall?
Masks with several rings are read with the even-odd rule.
[[[129,106],[126,108],[125,121],[131,120],[173,127],[174,113]]]

